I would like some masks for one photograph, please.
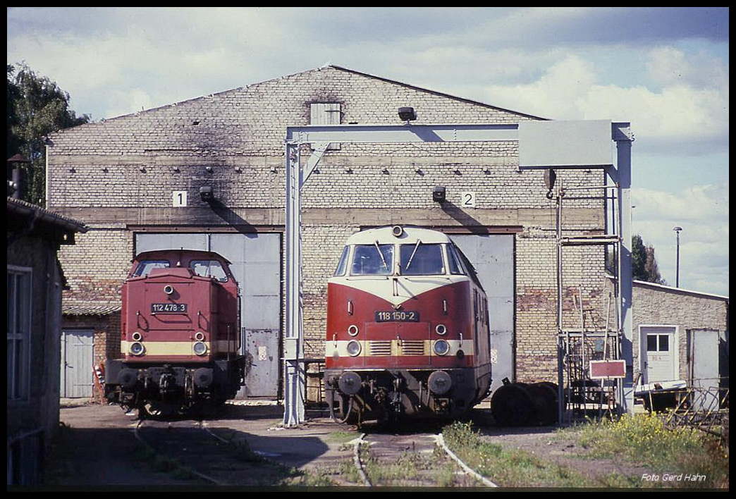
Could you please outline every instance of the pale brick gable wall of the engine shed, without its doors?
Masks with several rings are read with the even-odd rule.
[[[336,102],[343,124],[398,124],[411,105],[417,124],[517,123],[522,113],[480,105],[341,68],[322,68],[176,105],[86,124],[52,136],[49,208],[88,222],[62,254],[66,300],[119,300],[132,258],[130,227],[217,230],[227,224],[283,227],[286,125],[304,125],[314,102]],[[308,151],[302,154],[306,161]],[[208,171],[209,167],[209,171]],[[601,171],[564,171],[567,186],[600,185]],[[212,185],[224,209],[199,200]],[[448,203],[431,200],[445,185]],[[171,191],[188,192],[188,208],[171,207]],[[476,207],[460,208],[463,191]],[[522,227],[517,235],[517,375],[556,379],[554,204],[540,171],[518,169],[517,143],[341,144],[329,151],[303,192],[305,353],[321,355],[326,280],[347,236],[360,227]],[[567,203],[570,233],[603,230],[596,192]],[[592,320],[601,314],[602,250],[570,250],[571,290],[583,286]],[[582,270],[573,272],[580,266]],[[571,305],[566,305],[568,308]]]

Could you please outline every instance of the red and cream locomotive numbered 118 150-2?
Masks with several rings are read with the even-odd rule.
[[[490,384],[488,301],[450,238],[399,226],[351,236],[328,280],[333,418],[456,417]]]

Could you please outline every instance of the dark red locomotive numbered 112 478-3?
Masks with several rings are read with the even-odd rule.
[[[139,414],[216,408],[243,386],[238,284],[205,251],[143,252],[122,288],[121,355],[105,362],[108,400]]]

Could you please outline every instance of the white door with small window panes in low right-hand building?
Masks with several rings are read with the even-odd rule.
[[[674,326],[642,326],[641,358],[644,383],[676,380]]]

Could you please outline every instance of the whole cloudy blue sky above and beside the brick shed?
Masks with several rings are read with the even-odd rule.
[[[327,63],[553,119],[630,121],[634,232],[729,294],[729,10],[9,8],[25,61],[112,118]]]

